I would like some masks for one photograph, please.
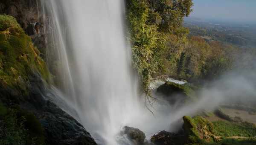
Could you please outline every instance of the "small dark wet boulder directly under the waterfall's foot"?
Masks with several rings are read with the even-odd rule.
[[[146,145],[147,142],[145,142],[145,133],[143,131],[140,131],[140,129],[137,128],[131,128],[128,126],[125,126],[124,128],[124,134],[128,136],[131,141],[134,142],[135,145]]]

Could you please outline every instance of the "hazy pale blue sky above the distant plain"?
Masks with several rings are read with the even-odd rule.
[[[190,16],[224,20],[256,21],[256,0],[193,0]]]

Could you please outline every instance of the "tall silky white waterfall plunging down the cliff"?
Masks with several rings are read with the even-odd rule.
[[[79,118],[96,140],[116,145],[120,129],[140,110],[125,39],[124,2],[43,0],[42,5],[45,29],[52,32],[47,56],[58,72],[56,87],[77,114],[64,110]]]

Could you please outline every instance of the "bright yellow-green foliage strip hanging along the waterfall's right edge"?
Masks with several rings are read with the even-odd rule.
[[[151,75],[159,67],[157,51],[163,47],[164,39],[157,32],[157,26],[147,23],[149,6],[146,0],[127,0],[127,19],[131,32],[134,67],[138,70],[143,91],[149,94]]]

